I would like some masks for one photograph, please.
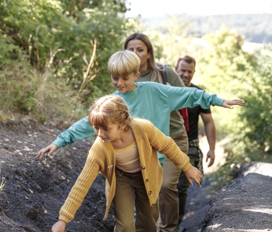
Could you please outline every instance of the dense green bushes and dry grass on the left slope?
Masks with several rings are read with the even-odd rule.
[[[1,117],[69,124],[85,116],[93,97],[113,88],[107,61],[135,26],[126,10],[125,0],[1,1]]]

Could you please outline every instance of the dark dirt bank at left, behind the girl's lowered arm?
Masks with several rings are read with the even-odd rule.
[[[34,154],[61,131],[30,122],[0,123],[0,176],[5,177],[0,195],[0,232],[49,232],[58,212],[82,170],[91,140],[59,149],[54,158],[37,159]],[[68,223],[67,232],[112,232],[113,210],[103,222],[104,177],[99,175]]]

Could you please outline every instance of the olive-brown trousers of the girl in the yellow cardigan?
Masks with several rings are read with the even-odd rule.
[[[116,222],[114,232],[157,231],[159,204],[157,201],[153,207],[150,207],[141,171],[135,174],[116,171],[116,191],[113,204]]]

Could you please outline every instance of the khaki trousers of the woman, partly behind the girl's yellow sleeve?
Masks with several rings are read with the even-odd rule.
[[[187,154],[188,137],[184,131],[181,134],[171,137],[181,151]],[[178,231],[178,207],[179,198],[177,184],[179,181],[181,170],[166,158],[163,164],[163,183],[159,194],[161,232],[177,232]]]

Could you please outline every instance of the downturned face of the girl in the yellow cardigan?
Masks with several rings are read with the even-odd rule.
[[[113,122],[110,121],[106,129],[100,126],[98,127],[94,126],[94,130],[97,136],[100,137],[104,143],[107,143],[114,142],[120,139],[120,136],[123,132],[122,127],[123,125],[114,124]]]

